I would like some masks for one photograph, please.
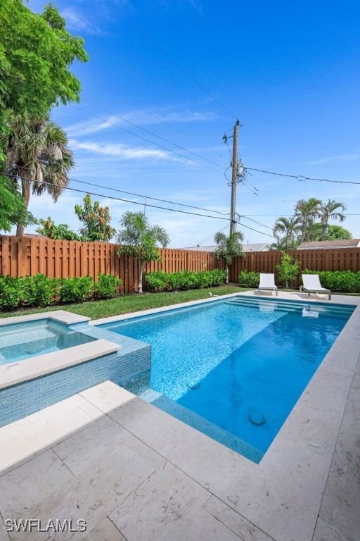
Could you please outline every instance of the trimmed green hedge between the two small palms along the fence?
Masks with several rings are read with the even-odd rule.
[[[191,270],[181,270],[179,273],[163,273],[158,270],[146,273],[146,288],[148,291],[181,291],[198,290],[204,287],[215,287],[224,283],[226,270],[200,270],[193,273]]]

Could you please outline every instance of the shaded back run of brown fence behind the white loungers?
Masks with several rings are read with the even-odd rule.
[[[293,259],[300,261],[300,274],[302,270],[360,270],[360,248],[329,248],[318,250],[288,250]],[[238,281],[242,270],[254,270],[257,273],[276,274],[276,265],[281,262],[281,251],[250,251],[245,258],[237,257],[233,260],[230,270],[231,282]],[[298,280],[290,282],[298,287]]]

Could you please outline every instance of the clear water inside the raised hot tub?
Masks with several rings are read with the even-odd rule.
[[[95,340],[49,319],[0,325],[0,365]]]

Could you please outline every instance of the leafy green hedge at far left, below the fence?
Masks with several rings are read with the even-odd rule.
[[[82,278],[48,278],[34,276],[0,276],[0,310],[8,311],[20,306],[49,306],[88,299],[110,299],[119,294],[122,281],[113,275],[98,273],[98,282],[89,276]]]

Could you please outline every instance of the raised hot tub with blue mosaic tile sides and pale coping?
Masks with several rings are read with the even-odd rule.
[[[0,319],[0,426],[105,380],[148,371],[150,345],[65,310]]]

